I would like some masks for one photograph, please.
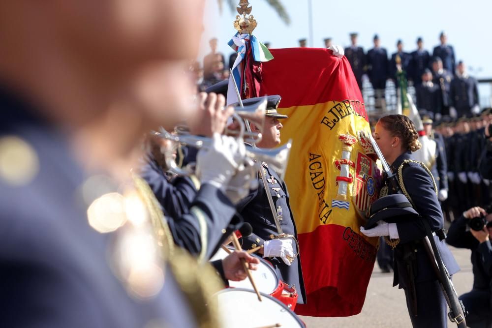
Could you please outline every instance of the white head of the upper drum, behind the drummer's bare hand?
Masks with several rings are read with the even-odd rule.
[[[222,248],[219,248],[217,253],[215,253],[215,255],[212,257],[211,261],[224,259],[227,255],[229,254],[227,254],[226,251],[224,251]],[[275,272],[275,269],[263,258],[255,254],[251,255],[260,260],[257,269],[254,271],[251,270],[251,275],[253,276],[256,287],[261,293],[272,294],[277,289],[280,282],[277,272]],[[253,286],[251,286],[251,283],[247,278],[243,281],[229,280],[229,286],[234,288],[245,288],[253,290]]]

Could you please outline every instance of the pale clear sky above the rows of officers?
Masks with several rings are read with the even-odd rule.
[[[249,0],[251,14],[258,21],[253,34],[262,42],[271,42],[272,48],[296,47],[298,39],[309,35],[307,0],[281,1],[291,17],[289,26],[265,0]],[[235,33],[232,22],[237,13],[231,12],[225,2],[219,14],[217,0],[205,1],[200,57],[209,52],[212,36],[219,39],[219,51],[227,58],[232,52],[227,41]],[[467,63],[470,75],[492,78],[491,0],[312,0],[312,6],[313,47],[323,47],[323,38],[329,36],[334,44],[345,47],[350,41],[348,33],[356,31],[365,51],[372,47],[372,37],[377,33],[389,54],[396,51],[398,39],[403,41],[405,51],[413,51],[418,36],[423,37],[431,52],[439,43],[440,31],[445,30],[457,60]]]

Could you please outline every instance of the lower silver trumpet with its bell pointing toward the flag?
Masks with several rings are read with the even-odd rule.
[[[160,128],[160,133],[158,136],[171,140],[175,143],[198,149],[211,147],[212,145],[212,138],[195,136],[191,134],[174,135],[166,131],[163,127]],[[271,165],[283,179],[291,148],[292,140],[289,140],[285,145],[276,149],[253,148],[246,145],[245,164],[260,167],[261,162],[267,163],[268,165]],[[166,164],[175,174],[180,176],[189,176],[195,173],[194,163],[190,163],[184,168],[180,168],[173,160],[170,153],[166,153],[165,158]]]

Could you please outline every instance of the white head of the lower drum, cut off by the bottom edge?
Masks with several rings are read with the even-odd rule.
[[[214,295],[222,327],[254,328],[280,324],[282,328],[304,328],[299,317],[278,299],[264,293],[228,288]]]

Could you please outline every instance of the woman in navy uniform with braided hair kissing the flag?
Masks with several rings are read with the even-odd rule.
[[[421,217],[399,223],[383,222],[368,230],[361,227],[361,232],[369,237],[391,238],[388,240],[395,247],[393,285],[400,284],[405,291],[413,327],[447,327],[446,300],[422,242],[426,236],[422,220],[428,220],[436,235],[442,235],[444,221],[431,175],[420,163],[411,162],[411,152],[421,147],[418,137],[413,122],[403,115],[384,116],[376,124],[377,145],[394,173],[404,165],[398,178]],[[387,178],[383,178],[383,183],[380,196],[397,193]],[[449,274],[456,273],[458,264],[444,240],[436,236],[434,239]]]

